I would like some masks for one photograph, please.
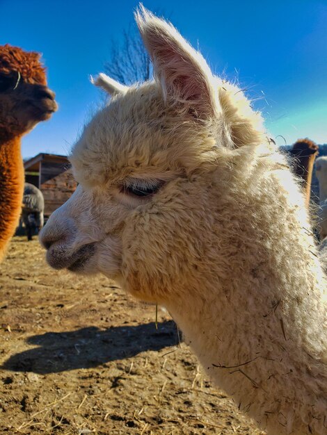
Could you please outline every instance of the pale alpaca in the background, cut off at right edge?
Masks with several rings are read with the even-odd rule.
[[[320,240],[327,236],[327,156],[316,160],[316,175],[319,181],[318,230]]]

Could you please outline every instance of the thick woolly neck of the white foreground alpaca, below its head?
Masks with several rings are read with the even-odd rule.
[[[269,434],[323,434],[326,281],[308,221],[284,192],[271,180],[253,195],[239,189],[229,204],[222,193],[217,219],[227,208],[241,217],[239,225],[219,231],[216,220],[213,244],[221,257],[203,265],[201,279],[189,277],[188,288],[175,289],[181,296],[166,308],[216,384]],[[301,201],[299,192],[296,197]],[[307,413],[303,420],[298,409]],[[303,421],[312,415],[310,432]]]

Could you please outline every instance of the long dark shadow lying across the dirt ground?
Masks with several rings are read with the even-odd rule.
[[[101,366],[147,350],[160,350],[178,343],[177,327],[170,320],[145,325],[112,327],[106,330],[88,327],[68,332],[47,332],[27,340],[38,345],[10,356],[1,368],[15,372],[40,374]]]

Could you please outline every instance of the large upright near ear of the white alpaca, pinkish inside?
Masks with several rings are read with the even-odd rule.
[[[163,97],[180,103],[200,119],[215,115],[218,104],[213,75],[202,55],[193,49],[168,22],[142,5],[136,23],[154,65],[155,79]]]

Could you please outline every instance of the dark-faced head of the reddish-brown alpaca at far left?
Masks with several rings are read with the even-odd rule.
[[[0,136],[21,136],[57,109],[40,54],[0,46]]]

